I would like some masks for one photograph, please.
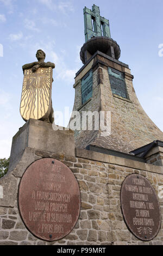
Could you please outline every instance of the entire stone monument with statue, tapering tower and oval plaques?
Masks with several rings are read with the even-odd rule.
[[[85,7],[84,22],[73,110],[109,112],[111,131],[54,131],[54,64],[39,50],[23,66],[26,123],[0,179],[0,245],[163,245],[163,133],[143,111],[99,7]]]

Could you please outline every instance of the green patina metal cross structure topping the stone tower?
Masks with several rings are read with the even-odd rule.
[[[95,36],[110,36],[109,20],[100,16],[99,7],[93,4],[92,10],[84,8],[85,41]]]

